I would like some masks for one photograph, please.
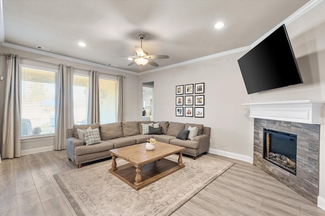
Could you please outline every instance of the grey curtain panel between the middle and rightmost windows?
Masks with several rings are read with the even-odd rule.
[[[100,122],[99,72],[89,71],[88,124]]]

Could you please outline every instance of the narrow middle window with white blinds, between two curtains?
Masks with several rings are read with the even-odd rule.
[[[75,124],[87,124],[89,72],[74,70],[73,112]]]

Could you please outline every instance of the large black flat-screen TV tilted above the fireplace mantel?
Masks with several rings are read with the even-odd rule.
[[[284,24],[238,60],[248,94],[303,83]]]

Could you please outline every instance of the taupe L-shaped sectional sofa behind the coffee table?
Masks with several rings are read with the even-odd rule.
[[[151,123],[155,123],[155,126],[159,123],[158,125],[161,128],[158,129],[160,129],[161,134],[143,134],[142,125],[147,127]],[[190,129],[191,127],[198,127],[198,135],[192,137],[192,140],[178,139],[177,136],[180,131],[188,129],[189,126]],[[85,141],[79,138],[78,132],[89,127],[99,129],[100,143],[85,145]],[[82,163],[110,157],[109,150],[113,148],[145,143],[150,138],[154,138],[156,141],[185,147],[183,154],[196,159],[198,155],[207,152],[209,149],[210,129],[210,127],[205,127],[203,124],[168,121],[123,121],[102,125],[99,123],[74,125],[73,128],[67,129],[67,155],[80,168]]]

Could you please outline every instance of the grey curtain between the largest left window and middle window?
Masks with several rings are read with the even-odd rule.
[[[66,149],[67,128],[74,125],[73,67],[59,65],[57,77],[57,112],[54,150]]]

